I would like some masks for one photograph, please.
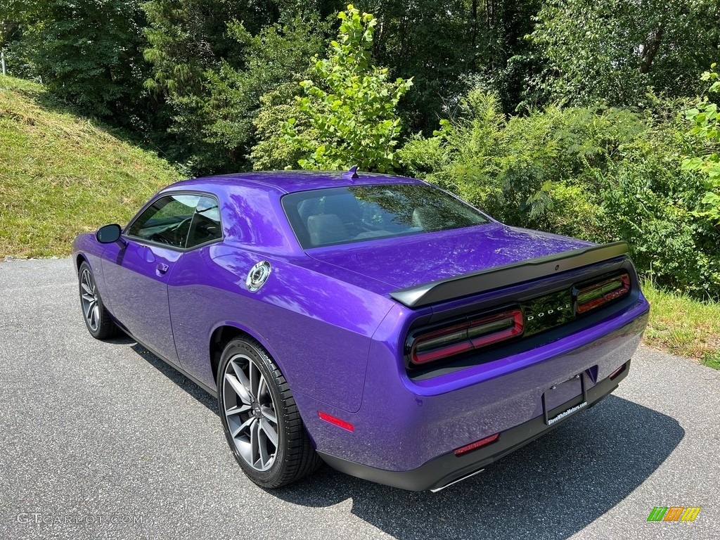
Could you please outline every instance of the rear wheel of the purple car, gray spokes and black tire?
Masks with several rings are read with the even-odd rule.
[[[222,352],[217,406],[235,460],[260,487],[292,484],[322,463],[285,377],[252,338],[236,338]]]

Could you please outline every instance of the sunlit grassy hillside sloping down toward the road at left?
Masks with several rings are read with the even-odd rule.
[[[166,161],[53,102],[41,85],[0,76],[0,261],[67,255],[77,233],[126,223],[179,179]]]

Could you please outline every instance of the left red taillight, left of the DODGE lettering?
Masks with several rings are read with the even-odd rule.
[[[505,341],[521,333],[523,312],[520,308],[466,320],[415,336],[410,346],[410,361],[413,364],[426,364]]]

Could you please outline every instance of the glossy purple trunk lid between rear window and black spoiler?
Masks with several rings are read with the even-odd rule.
[[[403,289],[593,245],[566,236],[490,223],[314,248],[306,253],[343,271]],[[328,266],[324,271],[333,274]]]

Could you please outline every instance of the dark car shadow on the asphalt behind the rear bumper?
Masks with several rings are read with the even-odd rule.
[[[313,507],[350,500],[352,513],[398,539],[561,539],[626,498],[684,435],[674,418],[611,395],[441,492],[397,490],[323,467],[272,493]]]

